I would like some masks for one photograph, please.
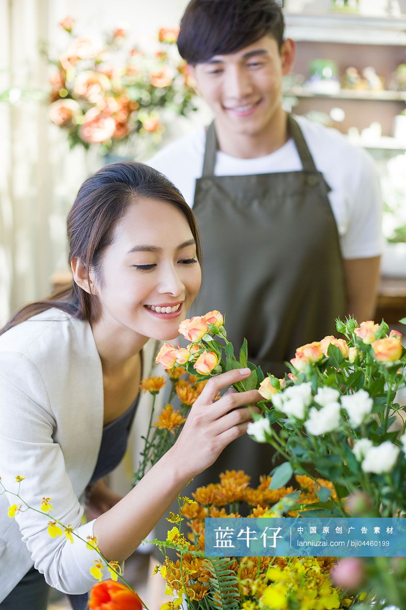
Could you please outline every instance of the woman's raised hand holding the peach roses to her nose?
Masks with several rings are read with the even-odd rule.
[[[229,443],[247,432],[251,412],[260,412],[258,407],[245,407],[263,400],[257,390],[226,392],[215,401],[222,388],[250,373],[249,368],[242,368],[212,377],[192,406],[177,442],[168,452],[188,480],[214,464]]]

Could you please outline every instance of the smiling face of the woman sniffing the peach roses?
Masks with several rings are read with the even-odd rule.
[[[180,210],[138,199],[117,224],[101,271],[95,292],[103,323],[153,339],[178,336],[201,282],[194,237]]]

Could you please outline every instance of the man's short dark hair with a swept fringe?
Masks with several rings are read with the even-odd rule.
[[[276,0],[192,0],[181,20],[178,49],[195,66],[240,51],[266,35],[281,48],[284,18]]]

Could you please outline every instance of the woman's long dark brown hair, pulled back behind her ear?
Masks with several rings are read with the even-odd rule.
[[[70,265],[74,258],[82,260],[88,282],[90,270],[102,281],[100,263],[103,251],[113,242],[116,224],[139,198],[166,201],[180,210],[195,239],[197,259],[201,260],[200,234],[194,213],[172,182],[143,163],[111,163],[83,182],[68,214],[68,262]],[[0,334],[51,307],[88,321],[97,319],[99,311],[97,297],[72,281],[46,300],[23,307]]]

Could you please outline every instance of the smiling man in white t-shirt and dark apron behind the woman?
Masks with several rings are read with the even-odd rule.
[[[282,109],[295,43],[284,39],[274,0],[192,0],[178,48],[214,123],[150,164],[200,226],[194,314],[226,314],[236,350],[247,337],[248,358],[281,376],[297,346],[334,334],[335,317],[373,316],[381,245],[373,162],[337,131]],[[239,439],[194,486],[225,468],[244,468],[255,485],[271,470],[269,449]]]

